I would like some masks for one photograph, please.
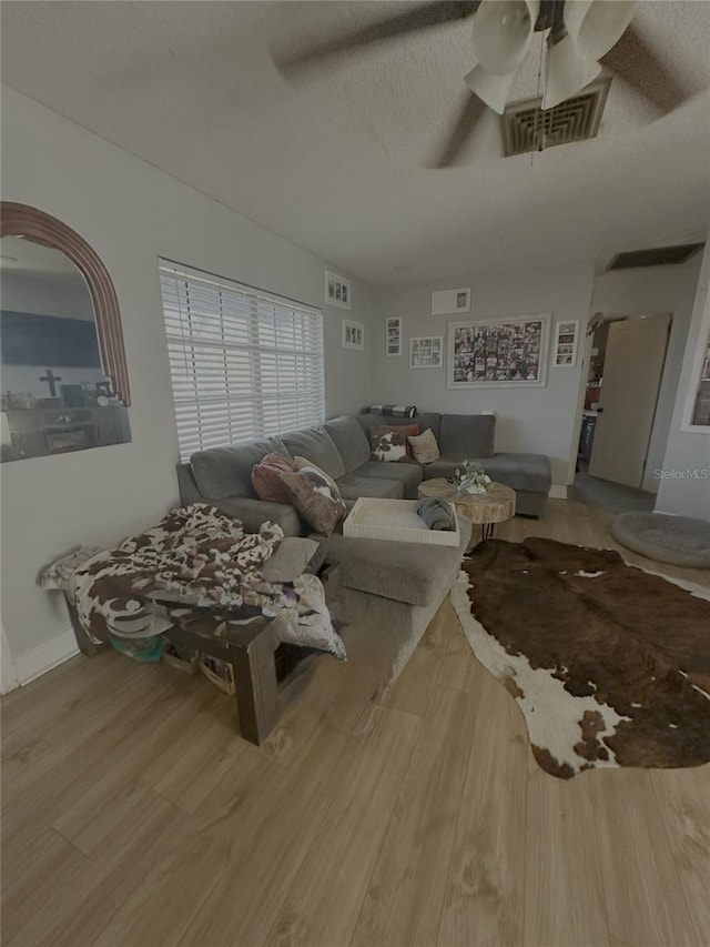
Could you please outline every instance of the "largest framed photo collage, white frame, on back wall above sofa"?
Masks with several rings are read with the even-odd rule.
[[[550,313],[448,323],[446,386],[542,387]]]

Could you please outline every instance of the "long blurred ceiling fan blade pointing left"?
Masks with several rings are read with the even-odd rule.
[[[344,33],[329,42],[314,46],[305,51],[292,56],[276,53],[274,54],[274,62],[281,72],[294,74],[301,69],[343,53],[353,52],[368,43],[383,42],[404,33],[464,20],[467,17],[473,17],[479,6],[480,0],[437,0],[437,2],[425,3],[414,10],[408,10],[406,13],[398,13],[388,20],[373,23],[372,27]]]

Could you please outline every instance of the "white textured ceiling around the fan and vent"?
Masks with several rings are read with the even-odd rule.
[[[470,21],[297,84],[268,52],[406,6],[4,0],[2,78],[373,283],[602,264],[619,250],[704,239],[710,3],[638,3],[635,24],[704,90],[681,109],[657,119],[615,81],[597,139],[517,158],[501,157],[488,112],[463,163],[443,171],[424,164],[464,95]],[[536,42],[513,99],[536,93],[539,54]]]

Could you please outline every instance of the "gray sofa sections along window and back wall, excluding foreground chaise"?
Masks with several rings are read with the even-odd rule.
[[[490,414],[422,412],[414,419],[375,413],[343,415],[317,427],[200,451],[190,463],[178,465],[180,495],[185,504],[215,504],[242,520],[250,531],[271,520],[287,536],[307,535],[308,527],[292,506],[265,503],[252,486],[252,467],[268,453],[307,457],[328,473],[344,498],[352,502],[361,496],[415,500],[422,480],[450,476],[463,460],[470,459],[478,460],[493,480],[516,491],[519,514],[539,516],[551,484],[549,459],[495,453],[495,422]],[[438,461],[422,465],[414,460],[371,460],[369,429],[413,423],[422,431],[432,429],[439,444]]]

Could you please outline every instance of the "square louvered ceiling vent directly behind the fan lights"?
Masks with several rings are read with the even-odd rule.
[[[506,158],[542,151],[556,144],[586,141],[599,131],[611,79],[591,82],[578,95],[542,111],[542,99],[506,105],[503,113],[503,152]]]

